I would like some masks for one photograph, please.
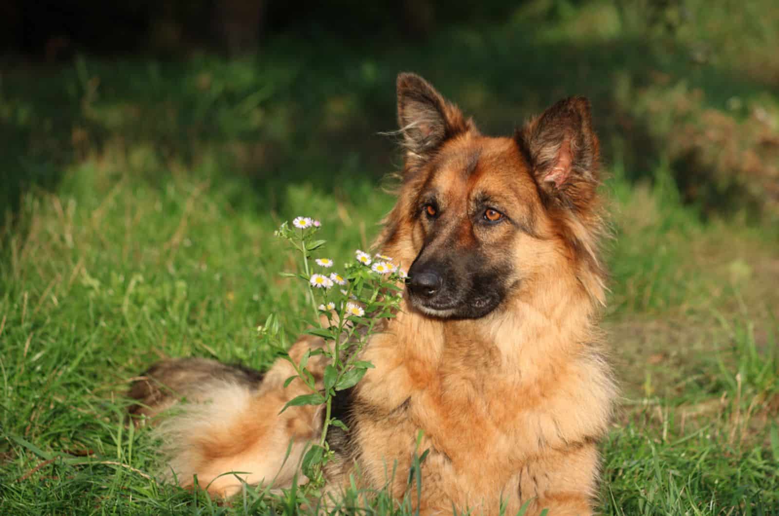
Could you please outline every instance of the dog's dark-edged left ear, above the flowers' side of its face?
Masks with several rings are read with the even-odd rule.
[[[397,76],[397,119],[409,164],[427,161],[443,142],[475,129],[459,108],[414,73]]]

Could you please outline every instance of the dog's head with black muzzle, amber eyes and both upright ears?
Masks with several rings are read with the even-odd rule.
[[[598,143],[586,99],[559,101],[493,138],[419,76],[400,74],[397,97],[403,183],[379,244],[411,263],[414,309],[482,317],[548,274],[570,274],[603,302]]]

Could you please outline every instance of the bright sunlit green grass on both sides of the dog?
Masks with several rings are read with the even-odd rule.
[[[122,511],[132,500],[142,512],[189,512],[194,504],[219,514],[263,512],[267,504],[281,503],[249,490],[229,508],[157,484],[153,476],[163,465],[154,443],[146,431],[124,424],[122,393],[129,379],[160,357],[200,355],[264,368],[273,356],[256,345],[257,324],[275,312],[291,335],[300,329],[294,314],[305,312],[303,292],[277,275],[294,267],[272,235],[280,215],[257,206],[245,181],[203,181],[194,174],[157,184],[87,163],[68,172],[58,193],[26,196],[20,216],[27,231],[7,236],[2,263],[0,471],[6,510]],[[366,194],[335,200],[291,185],[280,194],[286,199],[280,211],[320,217],[331,242],[328,254],[339,263],[375,235],[372,221],[392,203],[374,187],[354,188]],[[647,209],[644,203],[655,198],[638,190],[615,200],[626,221],[646,218],[643,224],[616,221],[612,261],[619,275],[609,317],[631,321],[612,348],[615,362],[632,362],[626,370],[642,377],[624,382],[619,426],[605,444],[604,507],[609,514],[693,508],[711,514],[779,503],[769,475],[779,451],[770,443],[779,392],[771,351],[775,327],[765,326],[760,313],[753,323],[738,304],[731,306],[727,293],[710,290],[721,270],[692,274],[696,261],[689,254],[714,234],[735,235],[738,228],[688,221],[680,233],[670,221],[684,208]],[[741,255],[745,263],[761,260],[760,246],[750,248],[748,235],[734,238],[753,249]],[[647,274],[649,249],[662,242],[676,242],[672,258],[654,253],[655,260],[668,261]],[[722,256],[730,260],[733,252]],[[717,263],[717,256],[710,260]],[[677,269],[690,274],[663,273]],[[630,281],[638,286],[629,287]],[[742,281],[740,288],[749,291],[755,281]],[[652,292],[635,301],[630,288]],[[707,296],[708,303],[700,302]],[[711,316],[711,306],[721,312]],[[680,311],[692,316],[688,330],[675,338],[641,322],[679,317]],[[659,358],[624,339],[641,332]],[[665,361],[693,381],[665,388]],[[653,371],[647,384],[643,375]],[[741,480],[728,482],[731,476]],[[389,499],[375,504],[389,507]]]

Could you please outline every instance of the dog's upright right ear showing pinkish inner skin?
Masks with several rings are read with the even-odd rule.
[[[590,101],[569,97],[516,133],[542,192],[556,203],[583,209],[597,189],[599,148]]]

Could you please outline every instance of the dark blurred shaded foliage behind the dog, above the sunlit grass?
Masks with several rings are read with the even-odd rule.
[[[81,37],[142,53],[96,57],[71,41],[51,64],[29,55],[6,62],[0,210],[15,212],[25,189],[51,188],[65,168],[96,155],[121,155],[150,181],[178,173],[174,161],[211,161],[251,178],[271,208],[283,182],[375,182],[397,165],[393,143],[376,134],[395,125],[394,76],[414,70],[488,133],[586,95],[606,165],[628,181],[654,182],[658,166],[669,168],[703,214],[777,216],[776,2],[412,3],[270,2],[259,50],[231,59],[202,50],[213,36],[203,26],[208,2],[101,4],[79,23],[104,36]],[[46,19],[67,28],[91,3],[53,5]],[[409,16],[424,18],[414,14],[420,5],[430,18],[424,30],[409,25]],[[165,19],[178,20],[170,34],[205,39],[157,41],[161,33],[146,25]],[[115,41],[136,22],[146,28]],[[322,163],[337,177],[315,175]]]

